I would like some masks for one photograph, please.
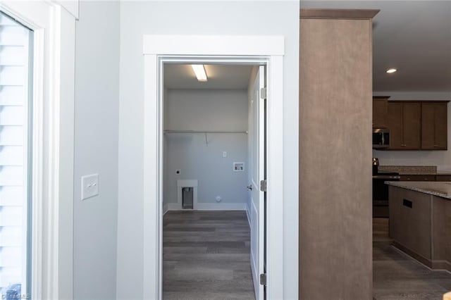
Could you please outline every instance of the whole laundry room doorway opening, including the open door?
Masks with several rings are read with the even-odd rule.
[[[264,62],[163,64],[163,299],[265,299],[265,78]]]

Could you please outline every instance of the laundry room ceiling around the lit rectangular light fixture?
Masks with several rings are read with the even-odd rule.
[[[168,89],[247,89],[252,65],[205,65],[207,82],[198,82],[191,65],[164,65]]]

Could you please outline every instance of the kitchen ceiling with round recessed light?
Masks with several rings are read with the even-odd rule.
[[[451,1],[304,1],[301,8],[378,8],[373,91],[451,92]],[[387,74],[388,68],[397,73]]]

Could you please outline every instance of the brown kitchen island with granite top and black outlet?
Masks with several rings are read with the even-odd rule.
[[[451,182],[385,182],[394,246],[432,269],[451,271]]]

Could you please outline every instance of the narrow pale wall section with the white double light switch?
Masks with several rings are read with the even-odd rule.
[[[119,3],[80,1],[75,46],[74,299],[116,298]],[[99,196],[80,200],[80,177]]]

